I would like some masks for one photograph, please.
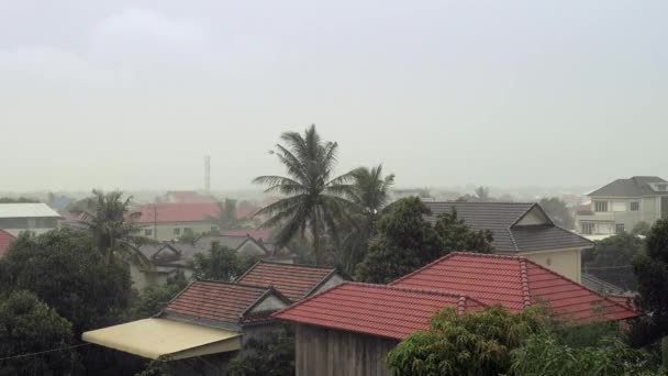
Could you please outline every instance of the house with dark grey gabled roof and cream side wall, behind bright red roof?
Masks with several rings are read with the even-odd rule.
[[[424,202],[427,220],[457,212],[467,225],[492,232],[494,253],[521,255],[580,281],[581,251],[593,243],[556,225],[538,203],[525,202]]]

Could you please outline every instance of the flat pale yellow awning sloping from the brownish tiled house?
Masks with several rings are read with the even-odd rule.
[[[155,318],[92,330],[81,339],[152,360],[162,355],[183,360],[241,349],[240,333]]]

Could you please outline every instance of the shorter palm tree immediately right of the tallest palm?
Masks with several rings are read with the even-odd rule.
[[[353,273],[368,248],[371,237],[376,234],[378,218],[387,207],[389,191],[394,184],[394,174],[382,177],[382,165],[378,167],[360,167],[352,174],[353,185],[346,197],[356,209],[350,215],[348,235],[344,239],[343,259],[339,261],[348,273]]]

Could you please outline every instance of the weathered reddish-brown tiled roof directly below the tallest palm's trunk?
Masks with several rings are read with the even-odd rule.
[[[236,279],[241,284],[274,286],[292,301],[301,300],[336,274],[336,268],[260,261]]]

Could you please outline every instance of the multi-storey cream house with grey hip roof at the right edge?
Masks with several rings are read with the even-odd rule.
[[[656,176],[616,179],[588,195],[591,210],[576,215],[581,234],[613,235],[631,232],[639,222],[668,218],[668,181]]]

